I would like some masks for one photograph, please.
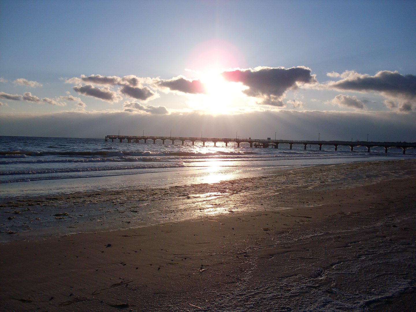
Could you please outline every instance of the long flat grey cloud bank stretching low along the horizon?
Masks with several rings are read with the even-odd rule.
[[[415,141],[416,113],[398,111],[253,111],[241,115],[208,115],[196,112],[160,114],[157,107],[128,103],[126,109],[142,110],[115,113],[61,112],[40,116],[0,115],[0,135],[102,137],[116,134],[208,137],[241,136],[266,138],[277,131],[277,139]],[[163,112],[163,108],[159,108]],[[53,116],[53,118],[51,118]],[[250,123],[246,121],[250,120]],[[259,125],[262,125],[259,127]]]

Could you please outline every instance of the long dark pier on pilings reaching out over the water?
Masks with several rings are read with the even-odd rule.
[[[120,135],[108,135],[105,137],[105,141],[114,142],[114,140],[119,140],[119,142],[123,142],[126,140],[129,143],[139,143],[140,141],[153,141],[153,144],[156,144],[156,141],[161,141],[162,144],[165,144],[165,141],[171,142],[175,144],[175,141],[181,141],[182,145],[188,141],[192,142],[192,145],[195,145],[195,142],[202,142],[203,146],[205,146],[205,142],[213,142],[214,146],[218,142],[225,143],[225,146],[228,146],[228,143],[237,144],[237,147],[240,147],[241,143],[248,143],[250,147],[255,148],[279,148],[279,144],[288,144],[290,149],[294,144],[303,144],[304,149],[307,148],[308,145],[318,145],[319,150],[322,150],[323,145],[332,145],[337,150],[338,146],[349,146],[351,151],[354,151],[354,147],[357,146],[365,146],[367,151],[370,152],[372,147],[381,146],[384,147],[385,152],[390,147],[396,147],[403,149],[403,154],[406,154],[407,148],[415,148],[416,143],[407,143],[407,142],[368,142],[368,141],[308,141],[308,140],[271,140],[267,138],[265,139],[251,139],[251,138],[203,138],[203,137],[185,137],[185,136],[120,136]]]

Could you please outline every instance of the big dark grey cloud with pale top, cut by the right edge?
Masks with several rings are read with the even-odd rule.
[[[342,79],[323,85],[329,89],[357,92],[379,92],[388,101],[389,109],[411,111],[416,109],[416,76],[388,70],[377,72],[374,76],[346,71]]]

